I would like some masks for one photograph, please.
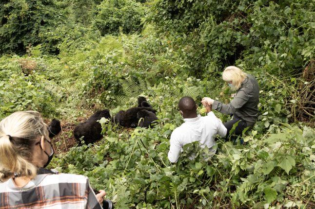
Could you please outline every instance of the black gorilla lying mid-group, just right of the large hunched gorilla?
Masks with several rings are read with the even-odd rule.
[[[147,110],[155,114],[157,110],[151,107],[132,107],[127,109],[126,111],[120,110],[115,118],[114,122],[127,128],[135,128],[138,126],[138,112],[141,110]]]

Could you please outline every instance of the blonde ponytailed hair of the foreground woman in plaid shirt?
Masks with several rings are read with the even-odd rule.
[[[0,122],[0,178],[14,173],[36,176],[32,150],[41,136],[49,139],[47,125],[39,112],[15,112]]]

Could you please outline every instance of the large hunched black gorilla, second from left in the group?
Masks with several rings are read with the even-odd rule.
[[[109,114],[109,109],[98,110],[85,122],[80,122],[73,130],[73,135],[79,143],[81,143],[80,138],[83,137],[83,140],[86,144],[94,143],[95,141],[102,138],[101,131],[102,127],[98,120],[101,118],[110,119],[111,115]]]

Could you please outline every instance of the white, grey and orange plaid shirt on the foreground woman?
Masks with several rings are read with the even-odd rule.
[[[102,209],[89,180],[75,174],[39,174],[18,188],[0,183],[0,209]]]

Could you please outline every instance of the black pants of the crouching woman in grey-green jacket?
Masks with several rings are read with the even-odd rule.
[[[238,122],[238,121],[239,121],[239,122]],[[236,122],[238,122],[238,124],[237,124],[237,126],[236,126],[234,132],[230,134],[230,131],[231,131],[231,129],[233,128],[233,125],[234,125]],[[230,138],[231,138],[233,141],[235,141],[238,136],[241,136],[241,135],[242,135],[242,132],[243,132],[243,130],[244,130],[246,127],[252,128],[252,126],[253,126],[253,125],[248,125],[248,124],[246,123],[246,121],[243,121],[243,120],[241,120],[241,119],[239,119],[239,118],[236,118],[235,116],[233,117],[233,119],[232,119],[231,121],[225,122],[225,123],[223,123],[223,125],[224,125],[224,126],[226,127],[226,129],[227,129],[225,141],[228,141]],[[249,128],[249,129],[250,129],[250,128]],[[230,136],[231,136],[231,137],[230,137]],[[243,143],[243,140],[241,140],[241,143]]]

